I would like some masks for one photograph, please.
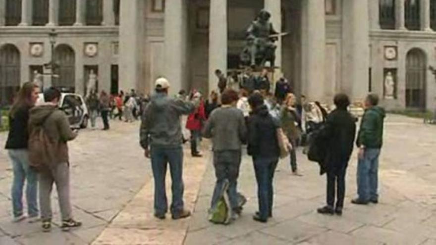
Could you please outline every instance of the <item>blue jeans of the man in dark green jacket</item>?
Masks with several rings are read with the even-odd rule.
[[[363,201],[377,200],[380,149],[365,149],[357,165],[357,194]]]

